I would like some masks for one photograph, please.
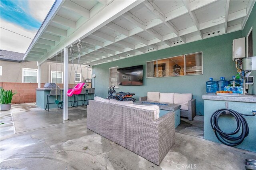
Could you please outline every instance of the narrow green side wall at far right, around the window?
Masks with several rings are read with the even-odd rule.
[[[242,36],[247,37],[250,29],[252,28],[252,55],[256,56],[256,3],[252,8],[252,12],[242,30]],[[247,40],[246,40],[247,42]],[[247,55],[247,52],[246,52]],[[254,76],[254,82],[256,82],[256,71],[252,71],[250,76]],[[256,94],[256,83],[254,85],[249,85],[249,93]]]

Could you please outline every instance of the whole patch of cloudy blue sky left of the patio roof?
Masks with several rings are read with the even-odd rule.
[[[25,53],[53,3],[54,0],[0,0],[0,48]]]

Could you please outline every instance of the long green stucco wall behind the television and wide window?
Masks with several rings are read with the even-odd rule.
[[[205,83],[209,77],[213,77],[217,81],[220,77],[230,80],[232,75],[236,75],[235,63],[232,61],[232,41],[241,37],[242,31],[237,31],[93,66],[92,73],[96,74],[94,78],[95,93],[100,97],[107,97],[110,67],[143,65],[143,86],[119,86],[116,91],[136,93],[134,98],[137,100],[141,96],[146,96],[148,91],[192,93],[193,98],[196,99],[196,111],[204,115],[202,95],[206,93]],[[199,51],[203,52],[203,75],[146,78],[146,61]]]

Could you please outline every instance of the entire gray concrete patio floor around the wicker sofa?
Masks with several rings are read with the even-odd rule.
[[[62,110],[47,112],[34,103],[2,111],[0,168],[242,170],[246,158],[256,159],[254,152],[204,140],[204,117],[196,116],[194,121],[181,119],[175,145],[157,166],[88,130],[86,116],[86,107],[69,108],[69,120],[63,121]]]

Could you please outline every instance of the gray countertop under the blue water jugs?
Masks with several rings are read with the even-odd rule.
[[[215,95],[212,93],[212,94],[203,95],[202,98],[205,100],[238,101],[238,102],[256,103],[256,95],[250,95],[250,96],[246,96],[246,95],[240,95],[240,96]]]

